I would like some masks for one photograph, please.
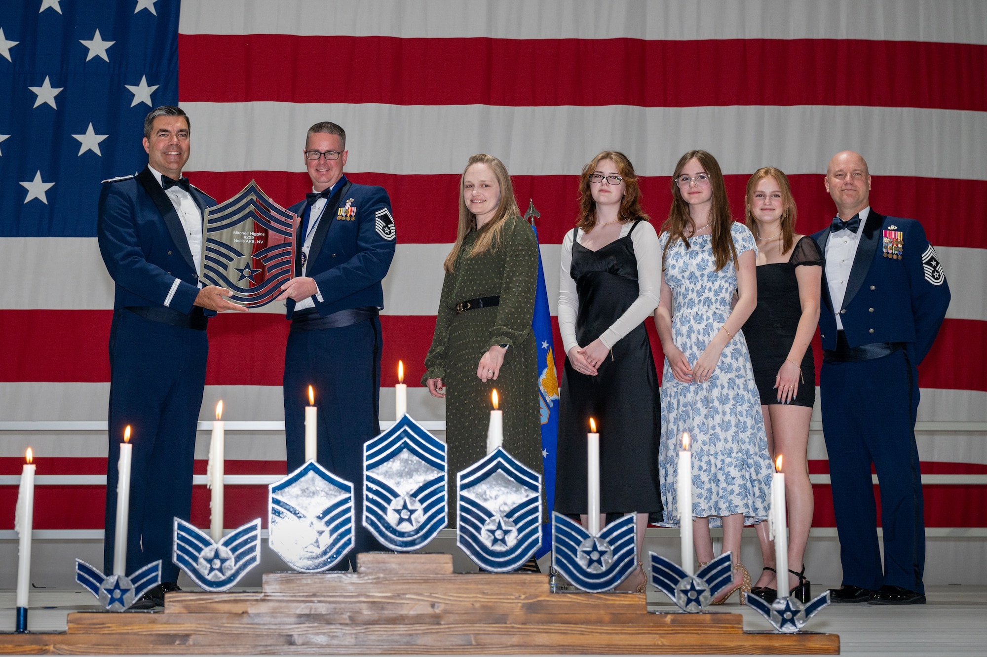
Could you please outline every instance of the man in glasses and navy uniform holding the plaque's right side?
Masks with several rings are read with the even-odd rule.
[[[336,123],[316,123],[305,139],[305,166],[313,193],[289,208],[302,218],[295,277],[278,299],[287,300],[291,320],[284,352],[284,430],[288,472],[305,463],[305,406],[315,389],[318,461],[353,483],[354,545],[381,550],[363,528],[363,443],[380,433],[378,312],[384,307],[381,280],[394,257],[391,201],[383,187],[350,183],[346,133]],[[348,560],[348,562],[347,562]]]

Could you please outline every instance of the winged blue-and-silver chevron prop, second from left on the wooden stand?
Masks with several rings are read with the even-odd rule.
[[[172,561],[202,590],[226,591],[261,561],[261,519],[238,527],[216,543],[202,530],[176,518]]]

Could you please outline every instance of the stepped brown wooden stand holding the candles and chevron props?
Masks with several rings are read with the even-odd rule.
[[[455,574],[449,554],[360,554],[356,573],[268,573],[260,593],[173,593],[164,612],[77,612],[64,633],[0,635],[3,654],[839,650],[836,634],[744,631],[739,614],[648,614],[644,594],[552,594],[546,575]]]

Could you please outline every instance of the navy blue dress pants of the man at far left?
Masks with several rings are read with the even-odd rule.
[[[190,519],[195,429],[205,387],[204,330],[114,312],[110,330],[110,459],[107,463],[103,571],[113,572],[116,483],[123,429],[133,460],[127,515],[126,574],[161,559],[161,581],[178,581],[172,562],[174,518]]]

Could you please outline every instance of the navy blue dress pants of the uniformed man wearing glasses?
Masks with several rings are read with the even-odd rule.
[[[356,554],[382,546],[363,527],[363,443],[380,434],[380,354],[376,317],[341,328],[288,334],[284,351],[284,435],[288,472],[305,463],[308,387],[318,411],[317,461],[353,484],[353,548],[334,570],[356,570]]]

